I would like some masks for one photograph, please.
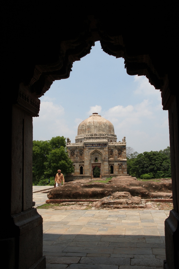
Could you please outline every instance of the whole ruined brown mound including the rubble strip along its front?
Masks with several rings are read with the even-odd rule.
[[[55,207],[55,210],[93,210],[93,209],[150,209],[171,210],[172,203],[164,203],[162,199],[171,199],[171,179],[136,180],[131,176],[117,176],[109,182],[101,180],[75,180],[52,189],[48,194],[50,200],[65,199],[99,199],[98,202],[72,201],[60,204],[46,204],[43,208]],[[161,202],[146,201],[161,199]],[[54,203],[54,201],[53,201]]]

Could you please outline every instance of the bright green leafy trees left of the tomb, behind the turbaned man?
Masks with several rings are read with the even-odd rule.
[[[60,169],[63,175],[74,171],[68,157],[66,141],[63,136],[52,137],[47,141],[33,141],[33,183],[47,184]]]

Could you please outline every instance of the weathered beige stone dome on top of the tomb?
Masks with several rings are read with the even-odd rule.
[[[98,113],[93,113],[78,126],[77,135],[85,134],[114,134],[113,124]]]

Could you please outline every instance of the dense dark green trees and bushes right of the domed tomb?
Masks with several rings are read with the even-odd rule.
[[[127,158],[127,172],[141,179],[170,178],[170,147],[158,151],[145,151],[136,156],[136,152]]]

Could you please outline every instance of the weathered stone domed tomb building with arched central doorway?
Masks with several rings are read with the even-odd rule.
[[[75,143],[67,138],[74,173],[66,180],[127,175],[126,137],[117,142],[113,124],[93,113],[78,126]]]

